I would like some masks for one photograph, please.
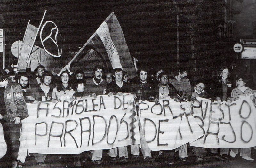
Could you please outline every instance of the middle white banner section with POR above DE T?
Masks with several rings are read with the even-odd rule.
[[[150,150],[171,150],[203,136],[201,128],[190,113],[190,102],[173,99],[159,103],[140,102],[140,125]]]

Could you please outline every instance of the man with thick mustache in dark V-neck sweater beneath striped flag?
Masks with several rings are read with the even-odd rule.
[[[91,95],[94,99],[97,98],[98,95],[106,94],[107,82],[102,79],[103,76],[103,67],[101,65],[96,65],[92,69],[93,77],[86,80],[86,85],[84,88],[84,92],[87,95]],[[103,150],[94,150],[92,155],[92,161],[95,164],[101,163]],[[80,156],[81,157],[81,156]],[[80,158],[86,161],[86,158]],[[83,163],[82,163],[83,164]]]

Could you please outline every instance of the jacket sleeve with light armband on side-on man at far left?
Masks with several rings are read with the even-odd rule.
[[[20,85],[17,85],[15,88],[15,91],[13,92],[13,97],[15,99],[15,102],[17,103],[17,111],[16,111],[16,117],[22,117],[23,111],[25,108],[25,99],[22,94],[22,89]]]

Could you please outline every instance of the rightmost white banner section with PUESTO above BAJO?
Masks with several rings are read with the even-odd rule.
[[[204,136],[190,143],[204,148],[249,148],[256,146],[256,109],[250,96],[230,106],[197,98],[191,109]]]

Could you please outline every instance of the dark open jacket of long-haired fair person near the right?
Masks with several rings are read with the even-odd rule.
[[[217,82],[215,82],[215,84],[213,85],[212,87],[212,100],[216,100],[217,97],[220,97],[221,101],[224,101],[223,100],[223,89],[222,89],[222,79],[219,80]],[[227,81],[226,84],[231,84],[229,81]],[[231,95],[231,92],[232,92],[232,89],[234,87],[231,85],[231,87],[228,87],[227,88],[227,98],[230,98],[230,95]],[[227,101],[227,100],[225,100]]]

